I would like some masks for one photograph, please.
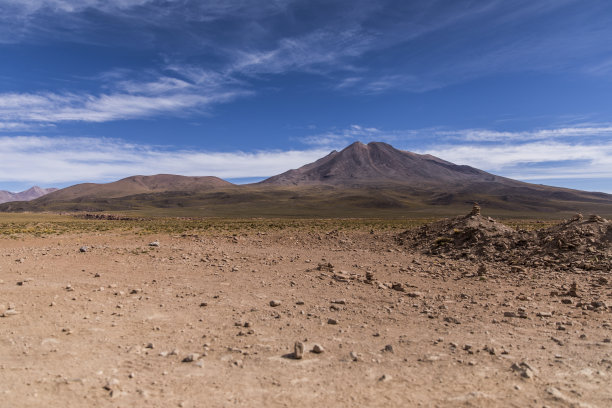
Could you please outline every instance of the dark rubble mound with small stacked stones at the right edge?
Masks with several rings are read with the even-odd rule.
[[[397,242],[427,254],[555,270],[611,270],[612,221],[580,214],[539,231],[514,230],[480,214],[444,219],[399,234]]]

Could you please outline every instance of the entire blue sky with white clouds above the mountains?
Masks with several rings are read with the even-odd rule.
[[[607,0],[0,0],[0,190],[354,141],[612,193]]]

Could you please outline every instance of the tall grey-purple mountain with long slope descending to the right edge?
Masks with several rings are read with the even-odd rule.
[[[513,204],[536,208],[538,203],[546,206],[549,201],[612,205],[609,194],[525,183],[432,155],[398,150],[381,142],[367,145],[355,142],[340,152],[334,150],[314,163],[270,177],[260,184],[409,190],[432,205],[469,201],[496,202],[495,205],[509,209]]]

